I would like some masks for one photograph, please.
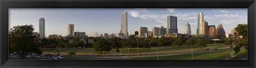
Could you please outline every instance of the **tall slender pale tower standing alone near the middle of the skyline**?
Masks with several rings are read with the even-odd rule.
[[[127,11],[121,14],[121,33],[124,34],[125,37],[128,36],[128,28],[127,28]]]

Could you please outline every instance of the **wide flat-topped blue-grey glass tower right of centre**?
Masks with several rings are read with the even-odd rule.
[[[167,16],[167,34],[178,33],[177,17]]]

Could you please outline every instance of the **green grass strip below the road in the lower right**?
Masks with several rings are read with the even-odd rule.
[[[234,50],[230,50],[230,53]],[[227,57],[226,57],[227,56]],[[236,54],[236,56],[241,56],[247,59],[247,50],[241,50]],[[230,58],[228,51],[216,51],[216,52],[207,52],[207,53],[196,53],[193,54],[193,60],[223,60]],[[157,60],[157,56],[151,57],[131,57],[131,60]],[[183,55],[169,55],[169,56],[158,56],[158,60],[192,60],[191,54]]]

